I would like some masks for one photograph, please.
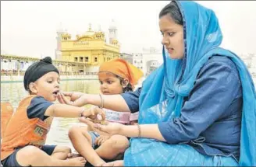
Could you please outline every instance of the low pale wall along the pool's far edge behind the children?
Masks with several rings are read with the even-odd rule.
[[[61,75],[62,81],[66,80],[97,80],[98,75]],[[23,75],[1,75],[1,82],[23,82]]]

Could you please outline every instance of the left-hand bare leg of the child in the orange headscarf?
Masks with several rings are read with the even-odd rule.
[[[91,147],[91,135],[86,128],[71,127],[69,129],[69,139],[76,151],[86,158],[91,165],[101,166],[105,163]]]

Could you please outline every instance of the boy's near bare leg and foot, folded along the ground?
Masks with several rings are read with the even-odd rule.
[[[60,160],[31,145],[17,152],[16,161],[21,166],[84,166],[86,163],[83,157]]]

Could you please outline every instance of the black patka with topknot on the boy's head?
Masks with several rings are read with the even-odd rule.
[[[29,85],[31,82],[36,82],[37,79],[41,78],[48,72],[55,71],[59,74],[59,70],[52,64],[51,57],[44,57],[40,61],[31,64],[24,75],[24,87],[27,91],[30,90]]]

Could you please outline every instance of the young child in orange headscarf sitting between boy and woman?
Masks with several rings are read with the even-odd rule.
[[[143,73],[140,69],[122,59],[105,62],[101,64],[98,72],[101,93],[103,95],[115,95],[133,91],[134,85],[142,76]],[[131,115],[129,112],[103,110],[105,110],[107,121],[121,124],[137,122],[134,121],[137,120],[136,113]],[[76,151],[94,166],[104,164],[102,158],[120,158],[119,155],[123,155],[123,152],[130,145],[128,138],[125,136],[100,135],[97,132],[89,131],[87,127],[72,127],[69,130],[69,138]]]

